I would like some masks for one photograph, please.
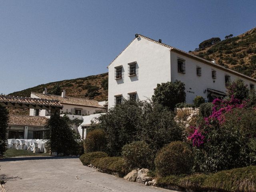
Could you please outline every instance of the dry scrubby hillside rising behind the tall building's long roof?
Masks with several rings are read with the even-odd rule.
[[[256,28],[192,53],[256,78]]]

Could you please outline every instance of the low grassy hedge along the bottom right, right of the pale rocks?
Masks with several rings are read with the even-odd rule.
[[[157,180],[157,185],[161,187],[194,191],[256,192],[255,184],[256,166],[224,170],[208,175],[171,175]]]

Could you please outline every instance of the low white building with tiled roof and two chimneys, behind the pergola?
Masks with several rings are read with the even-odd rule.
[[[89,115],[94,113],[106,112],[107,102],[98,102],[96,100],[90,100],[85,98],[75,98],[66,96],[65,90],[62,91],[62,95],[47,94],[47,89],[44,88],[43,93],[31,92],[31,98],[50,99],[59,101],[63,108],[60,110],[60,114],[70,115]],[[30,116],[48,116],[50,115],[48,110],[30,109]]]

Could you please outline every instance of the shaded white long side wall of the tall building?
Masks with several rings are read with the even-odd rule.
[[[225,75],[229,75],[231,81],[236,79],[244,80],[244,84],[247,84],[248,88],[250,88],[250,83],[256,84],[256,82],[199,62],[176,52],[170,52],[170,54],[172,82],[175,80],[180,80],[185,83],[187,103],[193,103],[193,100],[196,96],[202,96],[206,99],[207,92],[204,93],[204,90],[207,90],[207,88],[226,92]],[[186,74],[178,72],[178,58],[182,58],[186,62]],[[202,76],[196,75],[197,66],[202,68]],[[216,79],[212,78],[212,70],[216,71]]]

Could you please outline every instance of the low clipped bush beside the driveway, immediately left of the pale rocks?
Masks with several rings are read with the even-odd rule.
[[[124,159],[121,157],[102,157],[92,160],[92,164],[107,173],[117,172],[124,176],[127,172]]]

